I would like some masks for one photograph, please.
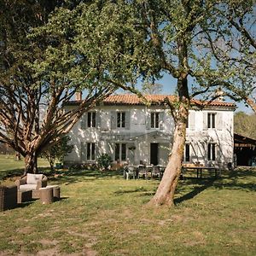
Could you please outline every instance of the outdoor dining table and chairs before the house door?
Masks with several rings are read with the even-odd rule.
[[[163,176],[166,166],[154,166],[154,165],[138,165],[138,166],[125,166],[124,167],[124,177],[125,179],[136,179],[136,178],[145,178],[149,179],[151,177]]]

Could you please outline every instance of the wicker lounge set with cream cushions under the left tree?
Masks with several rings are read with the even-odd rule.
[[[27,173],[12,186],[0,186],[0,211],[15,208],[17,204],[39,199],[43,204],[60,200],[61,189],[47,185],[43,174]]]

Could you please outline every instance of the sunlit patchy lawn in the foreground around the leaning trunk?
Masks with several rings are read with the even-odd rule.
[[[64,174],[65,173],[65,174]],[[4,255],[255,255],[256,169],[181,181],[176,207],[150,208],[159,181],[60,172],[61,201],[0,212]]]

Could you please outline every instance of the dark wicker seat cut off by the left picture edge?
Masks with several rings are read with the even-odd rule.
[[[0,185],[0,212],[17,206],[17,186]]]

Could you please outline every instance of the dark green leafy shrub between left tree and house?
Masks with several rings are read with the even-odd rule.
[[[64,157],[71,153],[73,150],[73,145],[70,144],[70,137],[64,136],[61,137],[61,140],[55,145],[46,149],[42,154],[41,157],[49,161],[49,165],[54,170],[55,161],[58,160],[61,163],[64,161]]]

